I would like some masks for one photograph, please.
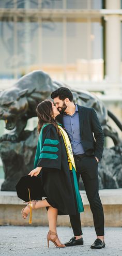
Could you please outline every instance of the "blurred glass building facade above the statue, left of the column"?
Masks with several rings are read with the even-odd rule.
[[[54,79],[102,81],[102,7],[101,0],[0,0],[0,79],[42,69]]]

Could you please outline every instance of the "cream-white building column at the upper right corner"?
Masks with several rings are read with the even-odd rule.
[[[106,0],[106,9],[120,9],[120,0]],[[106,80],[120,82],[120,18],[109,14],[106,20]],[[113,88],[114,89],[114,88]]]

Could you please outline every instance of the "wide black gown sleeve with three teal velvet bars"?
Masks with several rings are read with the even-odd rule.
[[[61,148],[59,137],[54,125],[49,124],[42,128],[35,156],[34,168],[61,169]]]

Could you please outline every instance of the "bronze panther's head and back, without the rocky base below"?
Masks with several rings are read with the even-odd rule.
[[[4,134],[0,141],[20,141],[24,135],[27,120],[36,116],[37,104],[49,98],[51,92],[60,86],[66,85],[52,81],[43,71],[33,71],[20,78],[11,88],[2,91],[0,93],[0,119],[4,119],[6,129],[12,131]],[[108,115],[122,130],[117,118],[106,110],[104,104],[95,95],[81,90],[71,89],[71,91],[74,102],[96,110],[104,135],[111,137],[115,145],[118,144],[120,141],[118,134],[108,125]]]

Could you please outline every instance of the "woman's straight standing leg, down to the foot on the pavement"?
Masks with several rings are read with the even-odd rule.
[[[57,234],[56,223],[57,223],[57,209],[50,206],[48,208],[48,221],[49,221],[49,230]],[[50,235],[51,239],[55,238],[55,235]],[[60,240],[57,238],[55,240],[56,244],[60,246]]]

